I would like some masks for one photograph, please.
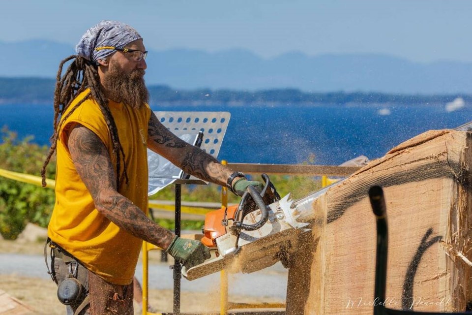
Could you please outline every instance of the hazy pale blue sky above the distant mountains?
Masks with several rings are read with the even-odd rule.
[[[102,19],[135,27],[148,48],[263,57],[289,51],[386,53],[472,62],[471,0],[0,0],[0,41],[75,45]]]

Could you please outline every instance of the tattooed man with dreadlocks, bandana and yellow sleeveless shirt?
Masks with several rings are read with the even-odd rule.
[[[187,268],[209,258],[199,241],[181,239],[148,219],[147,148],[238,195],[262,183],[247,181],[158,121],[144,82],[148,52],[136,30],[101,21],[82,36],[76,51],[59,65],[54,134],[41,174],[44,182],[45,167],[57,152],[50,273],[68,313],[131,315],[143,240]]]

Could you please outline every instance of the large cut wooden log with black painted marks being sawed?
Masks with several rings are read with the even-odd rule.
[[[429,131],[327,189],[312,205],[312,247],[299,250],[289,273],[287,314],[372,314],[374,303],[465,311],[472,301],[471,165],[471,133]],[[374,300],[373,185],[387,202],[385,301]]]

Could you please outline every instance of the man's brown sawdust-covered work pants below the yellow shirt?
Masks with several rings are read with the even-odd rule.
[[[58,256],[61,258],[54,259],[58,285],[69,277],[69,264],[74,263],[75,259],[63,250],[60,252]],[[128,285],[109,283],[87,270],[82,264],[78,265],[77,275],[79,282],[86,290],[88,289],[88,294],[84,295],[84,298],[87,296],[89,303],[85,304],[85,307],[83,305],[81,307],[82,301],[68,306],[74,315],[133,315],[133,282]]]

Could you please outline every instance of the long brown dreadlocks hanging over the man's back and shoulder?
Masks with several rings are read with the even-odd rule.
[[[70,60],[75,59],[67,68],[64,75],[61,77],[62,67],[65,63]],[[87,88],[90,89],[90,92],[85,95],[74,107],[67,113],[66,116],[62,117],[65,111],[69,108],[72,101],[77,95],[84,92]],[[41,169],[42,177],[42,186],[46,187],[46,167],[51,160],[51,157],[56,152],[59,130],[62,124],[67,120],[67,118],[80,106],[82,103],[89,97],[93,97],[98,103],[100,110],[105,118],[108,129],[113,142],[113,153],[117,160],[116,172],[117,172],[117,189],[120,185],[120,161],[121,156],[124,160],[124,151],[119,142],[118,138],[118,129],[113,119],[112,113],[108,108],[108,99],[102,91],[100,86],[100,81],[98,77],[97,66],[89,62],[87,59],[80,57],[78,55],[72,55],[59,64],[59,70],[56,75],[56,90],[54,91],[54,133],[51,136],[51,147],[49,148],[49,153],[44,161],[43,167]],[[60,118],[59,118],[60,115]],[[123,163],[123,175],[128,184],[128,174],[126,173],[126,163]]]

